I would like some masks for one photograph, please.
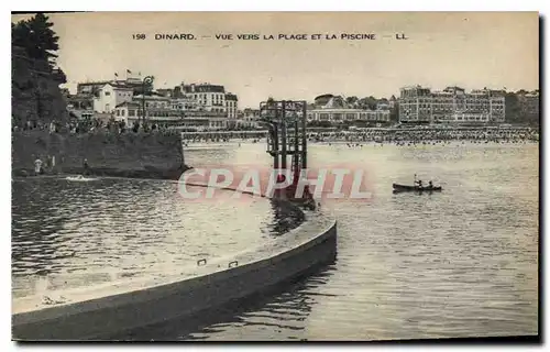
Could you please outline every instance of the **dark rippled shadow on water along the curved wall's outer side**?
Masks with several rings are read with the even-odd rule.
[[[125,341],[198,341],[222,332],[224,327],[272,326],[279,330],[298,332],[317,304],[309,290],[323,286],[333,275],[336,254],[329,264],[310,268],[300,276],[270,287],[246,298],[237,299],[216,309],[200,311],[185,319],[172,319],[152,326],[133,329],[109,340]],[[257,312],[262,312],[258,315]],[[286,318],[280,314],[286,314]],[[275,322],[254,322],[250,319],[276,317]],[[270,319],[267,319],[270,320]],[[295,322],[295,324],[293,324]],[[297,338],[295,338],[297,339]]]

